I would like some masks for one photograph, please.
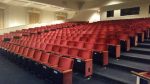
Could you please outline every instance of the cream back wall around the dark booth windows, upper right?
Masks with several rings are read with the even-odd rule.
[[[100,9],[101,20],[116,20],[116,19],[132,19],[132,18],[145,18],[150,17],[148,10],[150,1],[137,1],[134,3],[121,3],[118,5],[110,5],[104,6]],[[139,15],[128,15],[128,16],[120,16],[120,9],[122,8],[130,8],[140,6],[140,14]],[[106,17],[106,12],[109,10],[114,10],[114,17]]]

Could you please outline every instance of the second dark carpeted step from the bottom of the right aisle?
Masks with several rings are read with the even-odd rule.
[[[141,62],[129,61],[124,59],[116,60],[113,58],[110,58],[109,62],[110,66],[124,69],[126,71],[150,71],[150,65]]]

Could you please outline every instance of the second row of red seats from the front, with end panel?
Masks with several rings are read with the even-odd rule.
[[[60,56],[66,56],[70,57],[72,59],[78,59],[85,63],[85,67],[82,67],[83,70],[85,70],[85,76],[91,76],[92,75],[92,52],[87,49],[81,49],[81,48],[75,48],[75,47],[68,47],[68,46],[60,46],[60,45],[54,45],[54,44],[45,44],[45,43],[38,43],[38,42],[32,42],[32,41],[24,41],[23,44],[18,44],[20,46],[30,47],[33,49],[43,50],[45,52],[55,53]],[[25,44],[24,44],[25,43]],[[98,46],[98,45],[96,45]],[[11,48],[12,46],[9,45],[9,43],[4,43],[4,47]],[[108,57],[105,57],[105,59]],[[104,65],[108,64],[108,59],[106,59],[106,62],[104,62]],[[76,62],[76,61],[75,61]],[[90,65],[90,66],[89,66]],[[90,70],[90,71],[87,71]]]

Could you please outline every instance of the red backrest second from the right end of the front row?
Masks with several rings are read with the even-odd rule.
[[[55,55],[55,54],[50,54],[49,59],[48,59],[48,64],[51,66],[57,66],[59,62],[60,56]]]

